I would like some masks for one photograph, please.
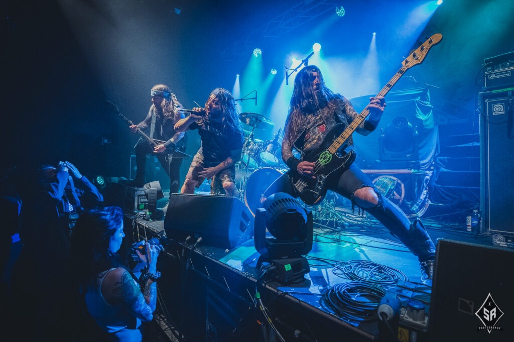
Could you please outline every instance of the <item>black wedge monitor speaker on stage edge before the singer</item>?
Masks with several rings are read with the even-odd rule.
[[[253,217],[235,197],[173,193],[164,230],[178,242],[201,237],[201,244],[233,248],[253,237]]]

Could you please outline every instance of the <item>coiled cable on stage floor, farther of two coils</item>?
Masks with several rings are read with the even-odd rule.
[[[342,262],[334,267],[333,272],[336,276],[341,278],[386,287],[396,285],[400,280],[409,280],[407,275],[399,269],[368,260]]]

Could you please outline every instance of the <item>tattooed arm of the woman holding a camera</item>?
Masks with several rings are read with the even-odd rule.
[[[111,305],[126,305],[135,317],[150,321],[157,304],[157,284],[146,281],[144,292],[130,272],[118,267],[109,272],[102,283],[102,295]]]

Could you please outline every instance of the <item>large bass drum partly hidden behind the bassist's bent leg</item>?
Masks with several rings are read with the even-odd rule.
[[[255,212],[261,207],[261,197],[264,191],[283,174],[282,171],[273,168],[255,170],[246,182],[245,204],[255,216]]]

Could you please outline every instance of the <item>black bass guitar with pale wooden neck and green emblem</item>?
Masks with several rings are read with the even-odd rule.
[[[423,62],[430,48],[438,44],[442,39],[443,35],[436,33],[413,51],[409,57],[403,60],[402,67],[386,86],[382,88],[377,96],[386,96],[393,85],[405,74],[405,71]],[[296,170],[289,173],[292,186],[300,193],[300,198],[305,204],[319,204],[325,197],[327,191],[325,185],[326,178],[334,171],[341,168],[348,168],[353,163],[355,160],[354,152],[340,155],[337,151],[369,114],[370,111],[365,108],[344,130],[342,124],[337,124],[329,131],[319,149],[305,154],[302,161],[315,163],[314,173],[312,175],[302,176],[298,174],[298,172],[295,172]],[[312,176],[315,178],[312,178]]]

